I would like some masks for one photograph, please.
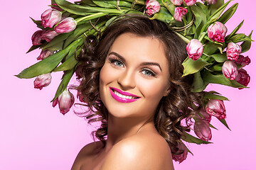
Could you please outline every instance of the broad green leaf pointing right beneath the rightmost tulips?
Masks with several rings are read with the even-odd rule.
[[[242,86],[242,84],[239,84],[235,80],[225,78],[222,73],[214,75],[211,74],[211,72],[205,70],[201,74],[201,76],[203,78],[203,81],[206,82],[206,84],[223,84],[225,86],[232,86],[234,88],[247,88],[245,86]]]

